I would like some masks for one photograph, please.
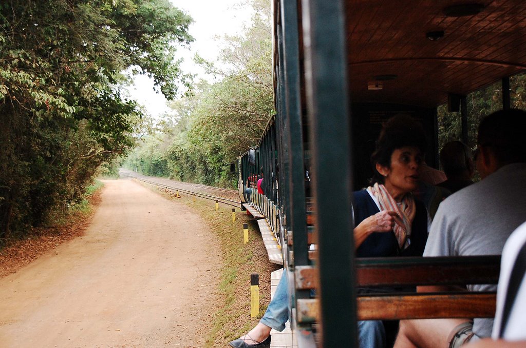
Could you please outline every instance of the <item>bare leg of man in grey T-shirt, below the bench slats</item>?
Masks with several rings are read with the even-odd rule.
[[[468,319],[401,320],[393,348],[448,348],[448,337],[457,325]]]

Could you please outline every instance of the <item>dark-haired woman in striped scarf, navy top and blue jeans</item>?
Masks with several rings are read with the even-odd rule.
[[[354,193],[356,254],[358,257],[421,256],[428,233],[427,212],[411,192],[417,188],[426,148],[422,126],[409,117],[393,117],[384,126],[377,144],[371,157],[375,168],[372,184]],[[261,321],[245,336],[230,342],[230,346],[269,347],[270,330],[282,331],[288,320],[287,291],[284,275]],[[360,321],[358,329],[361,348],[387,347],[382,321]]]

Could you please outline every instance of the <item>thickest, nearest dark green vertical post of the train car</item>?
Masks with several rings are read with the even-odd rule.
[[[319,251],[321,345],[357,346],[350,97],[343,0],[302,0]],[[349,52],[352,54],[352,52]]]

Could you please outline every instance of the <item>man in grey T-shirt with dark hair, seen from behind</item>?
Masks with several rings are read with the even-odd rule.
[[[423,256],[500,255],[505,240],[526,220],[526,112],[501,110],[479,126],[477,169],[482,181],[446,198],[431,225]],[[419,287],[442,291],[443,287]],[[468,286],[494,291],[493,285]],[[395,348],[458,347],[488,337],[492,319],[403,320]]]

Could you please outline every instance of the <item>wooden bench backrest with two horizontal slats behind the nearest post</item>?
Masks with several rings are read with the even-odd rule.
[[[465,286],[497,284],[500,256],[398,257],[356,259],[358,287]],[[296,289],[316,289],[317,271],[295,269]],[[492,318],[495,292],[387,292],[358,294],[358,320]],[[298,299],[299,324],[318,319],[317,299]]]

